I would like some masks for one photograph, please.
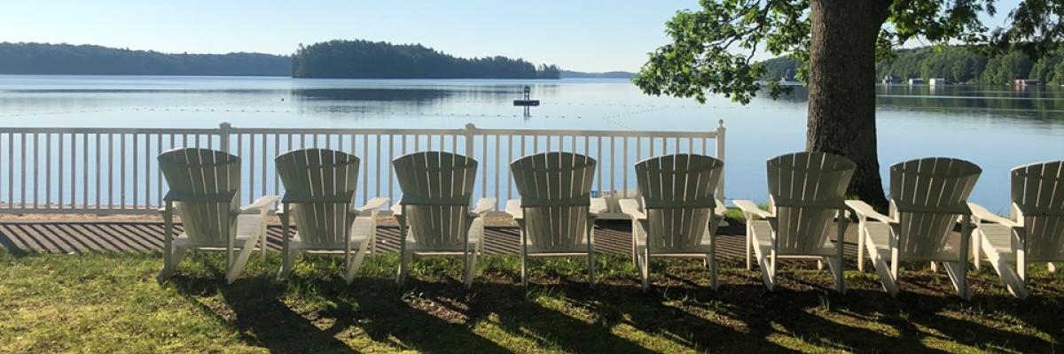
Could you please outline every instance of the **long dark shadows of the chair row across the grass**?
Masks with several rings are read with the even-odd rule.
[[[326,275],[314,270],[286,283],[246,275],[225,285],[223,272],[214,263],[205,266],[206,274],[179,273],[172,282],[188,299],[237,328],[244,341],[275,352],[382,347],[478,353],[787,352],[811,347],[857,352],[944,352],[966,347],[1046,352],[1064,337],[1060,317],[1050,315],[1061,309],[1059,298],[1018,301],[981,293],[964,302],[952,296],[948,282],[937,279],[941,274],[910,277],[897,299],[864,275],[853,276],[848,281],[850,290],[837,294],[830,276],[809,270],[786,271],[780,288],[768,292],[757,270],[735,270],[737,259],[722,265],[729,270],[721,273],[720,289],[713,291],[696,285],[708,275],[696,263],[656,273],[658,286],[649,292],[639,289],[633,274],[591,288],[577,265],[568,272],[533,272],[532,285],[526,288],[506,262],[494,263],[502,268],[486,270],[469,291],[456,280],[459,263],[433,265],[439,269],[425,273],[426,280],[411,277],[404,288],[384,275],[388,272],[382,269],[389,262],[380,262],[373,266],[380,269],[351,286],[339,279],[339,267],[329,263],[314,265],[325,266],[318,268]],[[225,308],[210,308],[199,300],[215,294],[225,301]],[[1033,327],[1049,338],[1009,325]],[[933,340],[946,343],[929,343]]]

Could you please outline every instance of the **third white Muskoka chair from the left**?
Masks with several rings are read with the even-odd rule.
[[[402,235],[396,282],[405,283],[408,263],[415,255],[459,255],[465,260],[465,286],[471,287],[484,241],[483,215],[496,203],[481,199],[469,209],[477,161],[429,151],[399,156],[392,165],[402,189],[402,199],[392,206]]]

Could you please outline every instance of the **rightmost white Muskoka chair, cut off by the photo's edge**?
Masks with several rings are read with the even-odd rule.
[[[986,255],[1013,296],[1024,299],[1029,294],[1030,263],[1045,262],[1055,271],[1053,262],[1064,260],[1064,161],[1012,170],[1013,219],[975,203],[968,206],[977,225],[972,242],[976,268],[981,255]]]

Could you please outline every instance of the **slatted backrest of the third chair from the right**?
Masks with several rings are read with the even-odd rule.
[[[799,152],[768,161],[769,208],[775,210],[781,254],[824,249],[857,165],[824,152]]]

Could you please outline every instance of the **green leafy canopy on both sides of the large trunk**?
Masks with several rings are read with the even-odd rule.
[[[1033,64],[1042,63],[1038,60],[1043,55],[1055,51],[1064,35],[1064,1],[1060,0],[1024,0],[1008,14],[1007,22],[1011,26],[995,29],[987,28],[980,18],[983,14],[997,14],[994,0],[851,1],[866,1],[869,6],[883,10],[884,26],[877,39],[881,63],[890,63],[882,60],[893,57],[895,48],[916,39],[941,47],[952,43],[965,45],[948,47],[945,54],[918,60],[918,69],[915,65],[899,64],[905,70],[901,75],[922,77],[925,71],[940,75],[946,69],[936,66],[952,66],[953,63],[944,61],[961,56],[961,49],[965,49],[980,54],[963,56],[971,60],[965,64],[967,70],[962,67],[952,77],[958,81],[999,83],[1011,75],[1027,74],[1021,73],[1025,68],[1034,71]],[[700,5],[698,11],[677,12],[665,24],[671,43],[651,52],[633,79],[645,92],[688,97],[699,102],[710,92],[747,103],[767,87],[776,97],[784,88],[775,80],[764,83],[760,80],[772,77],[770,69],[789,68],[786,62],[753,61],[759,51],[793,58],[798,64],[794,75],[799,80],[807,77],[810,0],[701,0]],[[980,66],[980,55],[991,58],[984,67],[986,71],[974,74]],[[1047,77],[1055,72],[1059,63],[1059,58],[1046,61],[1033,73]]]

